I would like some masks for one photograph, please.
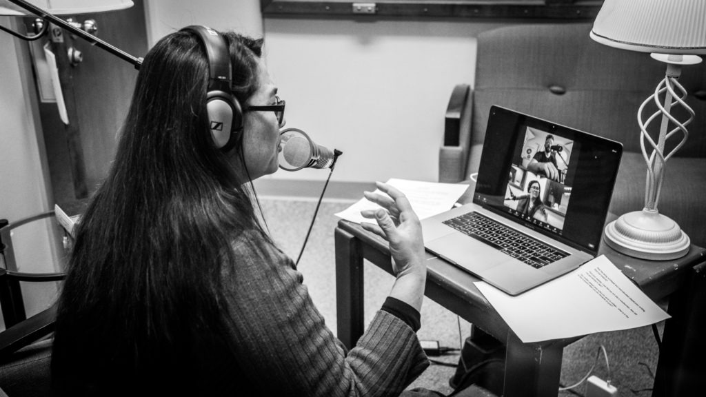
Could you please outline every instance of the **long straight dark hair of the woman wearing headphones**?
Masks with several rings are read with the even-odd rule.
[[[244,103],[258,88],[262,40],[224,37]],[[212,384],[236,367],[221,267],[237,263],[230,247],[242,231],[264,237],[253,244],[270,240],[241,148],[221,153],[210,137],[207,83],[192,32],[167,35],[145,57],[114,163],[78,223],[52,352],[59,393],[229,386]]]

